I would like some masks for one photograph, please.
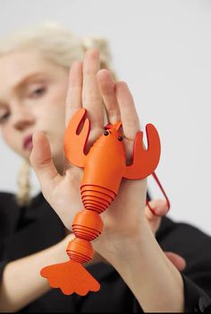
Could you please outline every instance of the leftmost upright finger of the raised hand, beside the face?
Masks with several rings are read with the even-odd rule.
[[[81,108],[82,81],[82,62],[77,61],[72,64],[69,74],[69,86],[65,106],[65,126],[68,125],[75,111]]]

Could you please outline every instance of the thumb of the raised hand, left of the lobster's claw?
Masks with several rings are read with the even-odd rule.
[[[44,195],[55,188],[56,181],[61,178],[51,157],[50,145],[46,135],[37,131],[32,137],[33,148],[30,153],[30,164],[35,170]]]

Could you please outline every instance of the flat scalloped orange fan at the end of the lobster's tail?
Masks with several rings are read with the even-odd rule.
[[[63,294],[77,293],[80,296],[97,292],[100,284],[84,266],[73,260],[44,267],[40,275],[48,280],[52,288],[60,288]]]

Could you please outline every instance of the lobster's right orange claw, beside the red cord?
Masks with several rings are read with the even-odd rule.
[[[160,139],[156,127],[152,124],[146,126],[148,137],[148,149],[144,149],[143,132],[136,135],[133,146],[133,161],[126,166],[123,174],[125,179],[144,179],[156,170],[160,159]]]

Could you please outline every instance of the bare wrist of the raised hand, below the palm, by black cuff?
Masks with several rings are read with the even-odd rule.
[[[107,259],[130,287],[144,311],[183,310],[181,274],[160,248],[147,219],[141,222],[135,236],[125,238],[124,245],[120,241],[118,249],[115,249],[116,254],[109,254]],[[160,302],[161,295],[163,303]]]

